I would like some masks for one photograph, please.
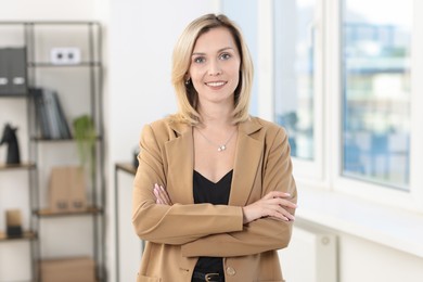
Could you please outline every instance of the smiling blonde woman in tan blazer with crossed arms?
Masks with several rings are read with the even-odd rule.
[[[248,115],[253,64],[240,29],[204,15],[174,50],[179,112],[143,128],[133,226],[138,281],[283,281],[296,208],[285,131]]]

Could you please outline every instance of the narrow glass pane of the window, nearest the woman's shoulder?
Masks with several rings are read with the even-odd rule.
[[[290,134],[293,156],[315,159],[316,0],[274,1],[274,119]]]

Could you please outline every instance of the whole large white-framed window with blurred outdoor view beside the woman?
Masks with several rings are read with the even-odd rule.
[[[423,2],[273,0],[260,8],[258,24],[268,27],[270,15],[273,35],[258,42],[272,47],[259,62],[271,66],[258,69],[272,72],[273,104],[264,111],[287,129],[297,180],[422,209]]]

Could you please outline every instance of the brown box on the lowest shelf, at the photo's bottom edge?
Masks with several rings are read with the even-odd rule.
[[[95,262],[89,257],[43,259],[41,282],[95,282]]]

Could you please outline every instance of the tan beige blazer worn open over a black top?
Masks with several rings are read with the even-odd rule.
[[[287,246],[292,222],[243,225],[241,208],[272,190],[296,201],[283,128],[259,118],[239,125],[229,205],[194,204],[191,126],[155,121],[143,128],[140,146],[132,222],[146,245],[137,281],[189,282],[198,256],[225,257],[227,282],[283,281],[275,251]],[[172,206],[155,204],[154,183],[166,187]]]

